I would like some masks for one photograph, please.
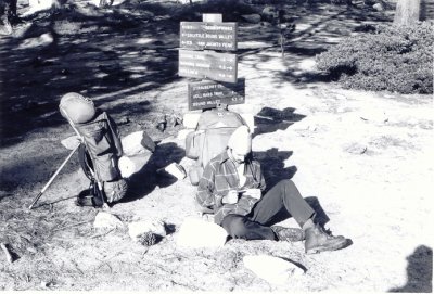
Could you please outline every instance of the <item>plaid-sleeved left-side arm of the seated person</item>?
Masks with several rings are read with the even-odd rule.
[[[216,169],[213,163],[208,163],[199,181],[196,201],[203,207],[220,207],[222,195],[214,193]]]

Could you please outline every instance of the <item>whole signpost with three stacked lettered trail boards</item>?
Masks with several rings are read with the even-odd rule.
[[[204,22],[180,23],[178,74],[208,79],[189,82],[189,110],[245,102],[245,80],[238,80],[237,23],[222,23],[221,14],[204,14]]]

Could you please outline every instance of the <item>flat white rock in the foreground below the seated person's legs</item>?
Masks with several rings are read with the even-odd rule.
[[[294,264],[269,255],[246,255],[244,266],[271,284],[284,284],[291,277],[301,277],[304,270]]]

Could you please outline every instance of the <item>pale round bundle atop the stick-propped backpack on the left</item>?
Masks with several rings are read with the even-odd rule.
[[[93,101],[79,93],[71,92],[64,94],[61,98],[59,107],[62,116],[69,118],[74,124],[87,123],[95,115]]]

